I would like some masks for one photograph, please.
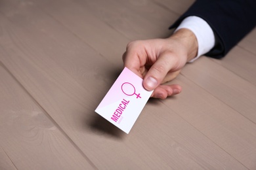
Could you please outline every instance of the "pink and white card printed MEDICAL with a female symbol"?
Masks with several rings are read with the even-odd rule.
[[[95,112],[128,134],[152,92],[143,88],[142,78],[125,67]]]

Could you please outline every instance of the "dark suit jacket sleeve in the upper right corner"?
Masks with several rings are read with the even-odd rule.
[[[203,18],[215,33],[218,44],[205,56],[223,58],[255,27],[256,0],[198,0],[170,28],[187,16]]]

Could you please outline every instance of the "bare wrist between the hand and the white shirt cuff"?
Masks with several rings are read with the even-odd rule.
[[[186,28],[182,28],[177,30],[173,35],[171,35],[170,39],[175,41],[179,41],[186,49],[187,58],[186,61],[190,61],[195,58],[198,54],[198,41],[196,39],[196,35],[192,31]]]

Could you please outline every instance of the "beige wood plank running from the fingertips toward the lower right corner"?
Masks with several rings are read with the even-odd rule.
[[[162,102],[236,160],[253,169],[256,159],[255,123],[183,76],[174,83],[181,84],[185,90],[179,99]],[[191,104],[192,100],[196,102]]]

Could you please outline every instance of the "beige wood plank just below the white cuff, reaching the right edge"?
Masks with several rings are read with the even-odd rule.
[[[256,124],[255,85],[215,61],[217,60],[202,57],[193,65],[187,65],[182,75]]]

